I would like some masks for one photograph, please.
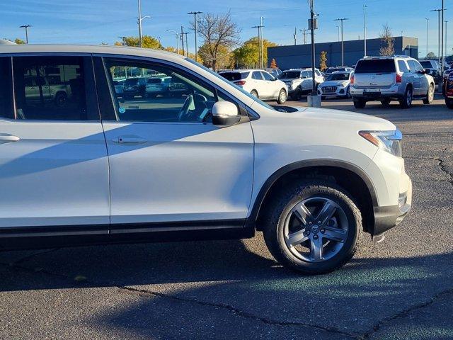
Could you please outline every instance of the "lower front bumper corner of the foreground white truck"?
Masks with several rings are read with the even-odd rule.
[[[412,181],[408,178],[408,190],[401,193],[398,205],[374,207],[374,230],[372,239],[380,242],[384,239],[384,232],[396,227],[411,211],[412,207]]]

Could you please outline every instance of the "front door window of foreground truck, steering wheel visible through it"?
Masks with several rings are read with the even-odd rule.
[[[166,65],[105,59],[105,67],[110,91],[115,91],[116,120],[207,123],[212,118],[212,106],[222,100],[212,86]],[[137,69],[149,77],[141,78],[137,86],[127,86],[137,84],[137,79],[125,79],[129,76],[127,69]],[[116,91],[113,81],[120,79],[125,79],[125,86],[123,91]]]

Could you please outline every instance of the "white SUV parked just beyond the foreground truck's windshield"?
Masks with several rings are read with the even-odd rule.
[[[219,73],[225,79],[263,100],[285,103],[288,97],[286,84],[260,69],[237,69]]]

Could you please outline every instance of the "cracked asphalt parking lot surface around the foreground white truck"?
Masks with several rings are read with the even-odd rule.
[[[413,211],[344,268],[287,271],[259,233],[3,252],[0,339],[453,339],[453,111],[437,98],[360,112],[403,131]]]

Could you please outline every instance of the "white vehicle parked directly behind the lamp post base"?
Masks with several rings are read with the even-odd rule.
[[[288,86],[288,94],[292,99],[298,101],[302,94],[309,94],[312,90],[312,77],[311,69],[287,69],[283,71],[278,77]],[[324,77],[319,71],[315,69],[316,86],[324,81]]]

